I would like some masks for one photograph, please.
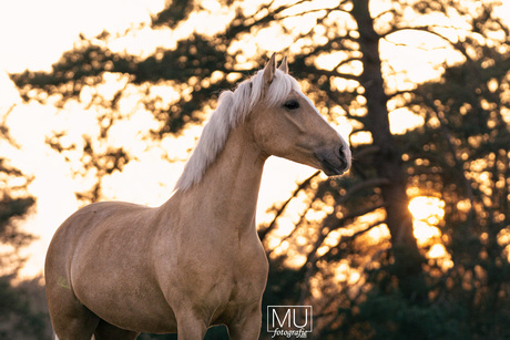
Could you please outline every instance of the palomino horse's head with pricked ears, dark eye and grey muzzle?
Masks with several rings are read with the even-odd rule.
[[[276,69],[273,55],[261,72],[264,72],[264,94],[248,120],[262,151],[310,165],[328,176],[349,169],[348,144],[288,75],[286,59]]]

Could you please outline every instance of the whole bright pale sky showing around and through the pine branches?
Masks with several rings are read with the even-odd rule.
[[[23,276],[34,276],[41,272],[51,236],[57,227],[79,207],[79,202],[74,196],[74,190],[79,190],[79,187],[72,177],[69,164],[44,143],[51,131],[65,124],[64,119],[55,116],[54,107],[37,103],[23,104],[8,78],[8,73],[22,72],[26,69],[49,71],[51,64],[59,60],[62,52],[72,49],[80,33],[85,37],[98,35],[103,30],[110,33],[122,33],[133,24],[150,22],[151,14],[163,9],[164,2],[165,0],[0,1],[0,47],[2,49],[0,53],[0,122],[8,124],[11,135],[19,144],[19,148],[16,148],[4,141],[0,141],[0,155],[9,158],[11,165],[24,174],[34,177],[29,186],[29,192],[37,197],[34,214],[31,214],[22,223],[22,228],[39,237],[39,240],[23,250],[23,254],[29,257],[29,261],[21,272]],[[385,1],[380,2],[384,3]],[[202,4],[216,13],[217,18],[230,16],[230,13],[223,12],[213,0],[203,1]],[[509,16],[509,1],[503,2],[500,12],[502,16]],[[193,22],[203,23],[203,20],[197,17],[194,18]],[[202,27],[202,29],[207,29],[207,25],[203,24]],[[185,25],[181,28],[178,34],[186,34],[193,29],[196,27]],[[172,45],[175,42],[173,34],[177,33],[162,31],[157,35],[153,32],[150,33],[149,30],[139,30],[136,34],[132,38],[139,40],[142,38],[143,47],[123,41],[118,48],[130,49],[131,53],[144,55],[144,53],[153,51],[156,45]],[[278,42],[269,43],[267,40],[272,35],[274,34],[271,31],[264,32],[257,38],[257,43],[264,49],[277,50]],[[382,54],[392,51],[396,71],[409,70],[406,73],[407,81],[420,82],[434,78],[432,72],[437,72],[437,70],[435,71],[427,60],[445,59],[445,51],[440,49],[429,53],[421,51],[414,58],[409,58],[408,51],[404,50],[402,47],[385,43],[388,45],[381,45]],[[420,41],[419,44],[425,47],[427,41]],[[10,109],[12,109],[11,114],[6,116],[4,113]],[[94,128],[95,117],[93,115],[79,110],[73,111],[72,106],[67,110],[73,120],[71,125],[74,126],[73,133],[68,132],[70,138],[73,135],[78,138],[81,134]],[[142,125],[151,124],[151,121],[144,117],[143,113],[134,112],[134,119],[140,120]],[[407,124],[406,126],[392,124],[391,127],[395,133],[401,133],[409,126],[422,123],[419,116],[411,115],[405,110],[392,112],[390,119],[394,122],[405,121]],[[350,131],[350,126],[339,126],[338,128],[344,135]],[[140,162],[130,163],[122,176],[112,177],[105,183],[105,194],[112,199],[151,206],[162,204],[170,197],[173,185],[184,166],[184,162],[169,163],[162,161],[162,150],[172,151],[184,161],[187,156],[185,151],[193,146],[200,132],[200,127],[192,128],[184,140],[177,141],[169,137],[162,142],[160,148],[143,153]],[[116,143],[126,143],[126,138],[130,140],[136,133],[137,131],[121,128],[116,134]],[[135,144],[133,147],[143,150],[144,145],[140,143],[142,142],[139,141],[137,146]],[[314,172],[307,166],[271,158],[266,164],[261,188],[258,220],[266,218],[265,210],[274,202],[283,200],[288,196],[297,179],[306,178]],[[151,175],[141,177],[139,174]],[[278,187],[278,190],[275,190],[275,187]],[[414,214],[417,214],[419,218],[428,218],[427,216],[422,217],[424,214],[419,213],[420,210],[424,212],[427,206],[430,206],[434,214],[440,214],[440,212],[437,213],[440,202],[431,203],[430,200],[416,200],[410,206],[411,213],[415,212]],[[284,223],[282,224],[284,225]],[[437,230],[425,228],[422,233],[434,234]]]

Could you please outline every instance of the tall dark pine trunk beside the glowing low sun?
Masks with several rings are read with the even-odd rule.
[[[395,259],[392,274],[398,278],[400,291],[409,299],[426,298],[422,276],[424,261],[412,235],[412,217],[408,209],[406,175],[401,167],[401,155],[389,131],[387,96],[381,74],[379,35],[374,30],[369,0],[354,0],[351,14],[358,24],[359,49],[363,53],[361,85],[367,100],[367,128],[379,152],[374,157],[374,167],[379,177],[388,178],[381,187],[386,204],[386,217],[391,234],[391,253]]]

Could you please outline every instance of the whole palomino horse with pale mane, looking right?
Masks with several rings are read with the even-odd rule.
[[[271,155],[340,175],[350,151],[273,55],[221,95],[217,110],[161,207],[96,203],[57,230],[45,261],[47,298],[62,340],[177,332],[203,339],[226,324],[257,339],[268,264],[255,208]]]

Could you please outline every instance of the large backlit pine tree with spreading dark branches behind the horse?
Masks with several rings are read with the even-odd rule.
[[[129,120],[123,100],[142,94],[137,105],[157,122],[146,138],[180,134],[203,121],[218,91],[262,68],[265,52],[244,50],[279,34],[316,106],[351,126],[355,162],[348,177],[316,173],[297,184],[259,226],[272,265],[264,303],[313,305],[318,339],[509,337],[509,30],[497,3],[218,2],[231,13],[223,29],[194,31],[146,58],[112,50],[115,37],[104,32],[82,38],[49,73],[11,75],[26,101],[98,112],[95,138],[65,145],[62,132],[48,140],[62,154],[82,154],[81,171],[94,174],[80,197],[101,199],[103,178],[136,157],[109,144],[113,126]],[[151,28],[178,31],[207,12],[200,1],[172,1]],[[440,49],[437,75],[412,81],[388,47],[414,55]],[[112,76],[119,83],[106,94]],[[180,95],[169,101],[155,86]],[[421,123],[395,133],[390,117],[402,110]],[[425,196],[443,212],[432,225],[408,209]],[[299,216],[282,236],[289,206]],[[417,241],[419,223],[436,236]]]

